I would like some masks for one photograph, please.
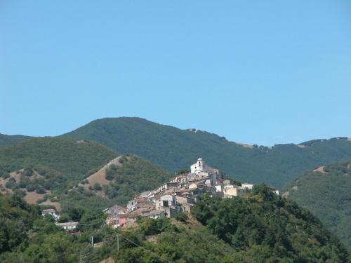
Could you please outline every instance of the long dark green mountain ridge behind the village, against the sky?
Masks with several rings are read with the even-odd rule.
[[[100,142],[121,153],[143,156],[171,172],[187,168],[201,156],[230,177],[274,187],[323,163],[351,159],[351,142],[346,137],[298,145],[250,146],[213,133],[180,130],[140,118],[98,119],[62,137]]]

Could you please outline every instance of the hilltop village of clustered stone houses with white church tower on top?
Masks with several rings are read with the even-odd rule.
[[[251,189],[253,184],[239,186],[232,184],[230,180],[224,180],[219,170],[211,168],[199,158],[190,166],[190,173],[179,175],[153,191],[138,194],[126,207],[114,205],[107,208],[106,224],[112,227],[130,227],[138,217],[175,217],[177,213],[190,213],[194,204],[205,193],[234,198],[244,196]]]

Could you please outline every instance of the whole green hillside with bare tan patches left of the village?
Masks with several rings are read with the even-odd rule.
[[[100,211],[115,203],[125,204],[173,176],[150,161],[128,155],[121,156],[119,166],[110,166],[88,184],[90,175],[117,156],[97,142],[58,137],[0,147],[0,191],[15,192],[26,200],[32,196],[31,203],[60,203],[62,213],[72,217],[78,210]]]

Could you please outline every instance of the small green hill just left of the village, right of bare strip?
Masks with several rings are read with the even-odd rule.
[[[67,213],[72,208],[100,211],[116,203],[126,205],[135,194],[155,189],[173,177],[163,168],[138,156],[122,156],[120,162],[120,166],[110,166],[107,169],[105,178],[110,182],[99,185],[98,191],[96,185],[87,189],[83,184],[69,191],[67,196],[62,196],[62,210]],[[104,198],[100,197],[101,194]]]

